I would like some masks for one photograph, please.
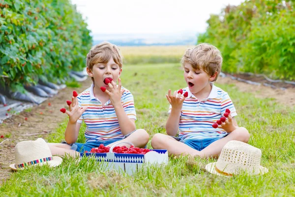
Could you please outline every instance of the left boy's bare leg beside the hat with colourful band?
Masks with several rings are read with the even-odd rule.
[[[71,146],[68,144],[60,144],[60,143],[47,143],[51,154],[52,155],[59,155],[59,156],[65,156],[70,155],[73,158],[76,158],[80,155],[79,152],[71,150]]]

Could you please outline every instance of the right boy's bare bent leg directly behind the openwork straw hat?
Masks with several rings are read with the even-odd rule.
[[[214,141],[205,149],[200,151],[197,155],[200,156],[201,158],[208,158],[208,157],[218,158],[218,155],[221,153],[222,148],[229,141],[237,140],[237,141],[248,143],[249,138],[250,138],[249,132],[245,128],[239,127],[235,131],[232,131],[226,137],[221,138],[217,141]]]

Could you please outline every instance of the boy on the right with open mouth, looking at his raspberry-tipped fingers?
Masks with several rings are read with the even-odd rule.
[[[236,109],[229,95],[214,86],[222,66],[220,51],[207,43],[187,49],[182,57],[184,79],[188,87],[183,95],[171,90],[166,95],[170,107],[166,123],[168,135],[157,133],[151,140],[154,149],[167,149],[173,155],[201,158],[218,157],[230,140],[248,142],[249,132],[238,127]],[[231,114],[218,126],[212,127],[226,109]],[[176,137],[179,129],[179,135]]]

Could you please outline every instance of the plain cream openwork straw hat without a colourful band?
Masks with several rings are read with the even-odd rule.
[[[268,169],[260,166],[261,150],[247,143],[232,140],[222,149],[217,162],[206,165],[212,174],[233,176],[241,172],[262,175]]]

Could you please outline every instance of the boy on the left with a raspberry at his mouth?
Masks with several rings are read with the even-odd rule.
[[[147,131],[135,128],[134,100],[130,91],[121,86],[121,72],[122,56],[116,45],[102,42],[91,48],[87,73],[93,84],[78,97],[72,97],[69,111],[65,111],[69,116],[66,143],[49,143],[52,155],[75,157],[100,144],[112,146],[118,142],[131,142],[140,148],[147,145]],[[86,143],[75,143],[83,120],[87,125]],[[123,145],[126,144],[119,146]]]

